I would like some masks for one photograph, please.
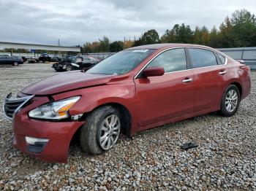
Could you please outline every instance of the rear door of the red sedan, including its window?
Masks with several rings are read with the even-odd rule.
[[[225,66],[211,50],[188,48],[188,53],[195,78],[195,112],[214,109],[219,106],[221,87],[227,78]]]

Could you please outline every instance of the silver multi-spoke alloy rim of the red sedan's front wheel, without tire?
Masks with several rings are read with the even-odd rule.
[[[121,129],[121,122],[116,114],[111,114],[102,122],[99,129],[99,145],[104,150],[111,149],[118,140]]]

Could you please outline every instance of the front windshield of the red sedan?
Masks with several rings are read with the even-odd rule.
[[[86,71],[91,74],[125,74],[134,69],[154,50],[124,50],[111,55]]]

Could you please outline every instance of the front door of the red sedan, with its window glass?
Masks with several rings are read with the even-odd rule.
[[[159,77],[135,79],[138,98],[138,122],[146,126],[191,114],[194,111],[194,83],[187,70],[184,48],[162,52],[146,68],[163,67]]]

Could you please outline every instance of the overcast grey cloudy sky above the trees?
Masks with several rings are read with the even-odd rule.
[[[0,0],[0,42],[71,46],[134,39],[174,24],[212,28],[236,9],[256,14],[255,0]]]

